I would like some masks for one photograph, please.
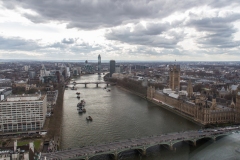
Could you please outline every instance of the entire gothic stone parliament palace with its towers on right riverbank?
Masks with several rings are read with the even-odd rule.
[[[186,91],[180,91],[180,66],[172,65],[169,68],[169,89],[156,90],[148,87],[147,98],[157,100],[163,105],[170,106],[193,121],[208,124],[240,123],[240,87],[237,89],[236,103],[230,105],[217,103],[216,95],[194,93],[191,81],[188,81]]]

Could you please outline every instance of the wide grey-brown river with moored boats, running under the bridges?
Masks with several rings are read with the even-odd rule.
[[[85,75],[75,79],[76,82],[103,81],[103,75]],[[62,123],[62,148],[94,145],[116,140],[159,135],[169,132],[197,130],[201,127],[171,113],[145,99],[126,92],[117,86],[84,84],[77,85],[76,90],[65,90]],[[77,112],[76,92],[80,92],[80,100],[86,101],[86,113]],[[91,116],[92,122],[86,121]],[[235,159],[239,153],[238,134],[224,137],[217,142],[199,141],[197,147],[184,142],[176,145],[176,151],[163,147],[151,147],[147,155],[142,157],[136,151],[128,151],[119,155],[124,160],[159,160],[159,159]],[[238,141],[237,141],[238,140]],[[230,143],[234,142],[234,143]],[[224,148],[221,146],[223,145]],[[227,149],[227,151],[225,150]],[[217,158],[218,157],[218,158]],[[93,159],[109,159],[99,156]]]

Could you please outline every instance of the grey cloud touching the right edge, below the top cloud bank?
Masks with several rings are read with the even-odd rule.
[[[238,31],[232,22],[240,19],[240,14],[231,14],[226,17],[204,17],[201,19],[190,19],[186,25],[195,28],[207,35],[199,38],[197,43],[203,48],[234,48],[240,45],[235,41],[233,34]]]

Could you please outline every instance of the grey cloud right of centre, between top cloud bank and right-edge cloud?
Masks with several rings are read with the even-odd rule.
[[[146,45],[159,48],[175,48],[184,34],[168,31],[172,26],[169,23],[147,23],[146,28],[137,24],[131,31],[130,27],[111,29],[105,37],[108,40],[117,40],[123,43]],[[170,38],[166,38],[170,36]]]

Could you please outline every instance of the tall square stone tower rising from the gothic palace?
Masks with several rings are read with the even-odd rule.
[[[180,87],[180,65],[172,65],[169,70],[169,87],[174,91]]]

